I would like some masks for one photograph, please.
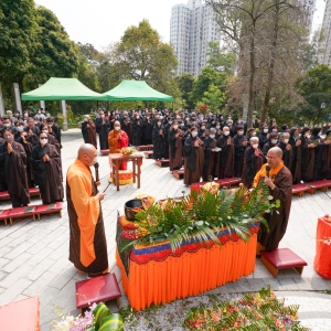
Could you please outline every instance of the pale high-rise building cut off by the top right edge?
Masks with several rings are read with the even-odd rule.
[[[331,0],[327,0],[322,30],[324,40],[319,45],[319,63],[331,67]]]

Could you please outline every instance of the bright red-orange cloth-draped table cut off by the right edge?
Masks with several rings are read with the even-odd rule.
[[[319,275],[331,279],[331,221],[320,217],[316,235],[313,266]]]

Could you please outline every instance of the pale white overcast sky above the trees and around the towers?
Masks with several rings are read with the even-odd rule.
[[[188,0],[35,0],[52,10],[71,40],[102,51],[130,25],[147,19],[164,42],[170,38],[171,7]],[[322,24],[324,0],[317,0],[313,30]]]

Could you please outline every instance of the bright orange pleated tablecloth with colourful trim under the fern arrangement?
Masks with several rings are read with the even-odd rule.
[[[151,303],[164,305],[175,299],[236,281],[254,271],[259,223],[250,227],[245,243],[236,235],[222,231],[222,245],[197,243],[183,245],[172,253],[168,242],[137,248],[130,253],[129,276],[116,252],[125,292],[136,310]]]

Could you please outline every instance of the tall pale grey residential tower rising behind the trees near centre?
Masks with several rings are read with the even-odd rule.
[[[175,4],[171,9],[170,43],[173,46],[179,75],[197,76],[206,65],[209,42],[221,41],[213,9],[201,0]]]

